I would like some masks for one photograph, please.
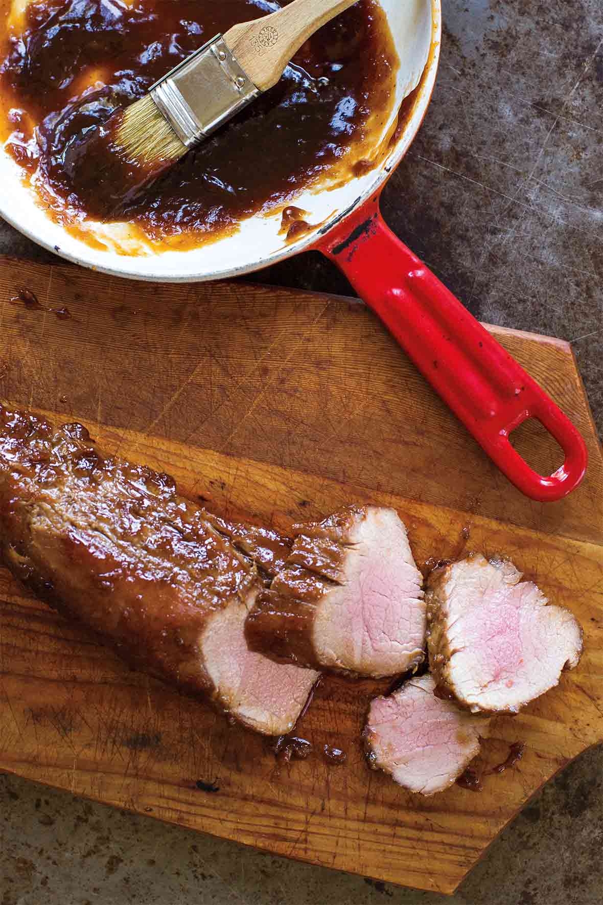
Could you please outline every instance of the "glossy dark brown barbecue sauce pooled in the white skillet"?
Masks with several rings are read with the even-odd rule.
[[[8,8],[8,0],[0,0]],[[273,0],[45,0],[5,38],[2,138],[61,223],[127,221],[161,249],[190,248],[346,179],[387,119],[398,59],[385,16],[361,0],[297,53],[278,85],[142,193],[124,194],[98,140],[111,114],[215,33]],[[4,26],[3,26],[4,27]],[[88,139],[86,144],[82,140]],[[348,154],[351,148],[358,153]],[[364,148],[366,151],[366,148]],[[142,181],[142,180],[141,180]],[[299,229],[294,225],[294,229]],[[80,234],[80,238],[85,235]],[[90,242],[94,242],[90,238]]]

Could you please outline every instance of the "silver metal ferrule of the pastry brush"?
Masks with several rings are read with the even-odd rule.
[[[203,141],[261,91],[221,34],[179,63],[149,93],[186,148]]]

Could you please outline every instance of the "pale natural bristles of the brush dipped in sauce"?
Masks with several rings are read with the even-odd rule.
[[[146,169],[175,163],[187,151],[150,94],[124,110],[115,144]]]

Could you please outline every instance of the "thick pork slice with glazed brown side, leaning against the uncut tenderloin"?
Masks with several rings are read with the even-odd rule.
[[[297,525],[286,567],[250,611],[248,643],[319,670],[406,672],[424,659],[422,581],[394,510],[352,506]]]

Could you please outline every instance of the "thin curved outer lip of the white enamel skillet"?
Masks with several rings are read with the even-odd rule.
[[[427,66],[429,66],[429,72],[427,76],[427,82],[424,86],[423,91],[421,92],[419,99],[420,117],[418,121],[415,123],[410,132],[407,132],[406,129],[404,130],[404,132],[400,136],[397,147],[392,152],[387,162],[383,165],[382,168],[375,172],[375,178],[372,179],[369,185],[363,188],[362,193],[355,199],[353,204],[350,205],[343,214],[341,211],[335,211],[324,224],[321,224],[321,229],[318,233],[310,233],[307,236],[303,236],[297,241],[297,243],[291,243],[289,246],[283,246],[283,248],[279,249],[277,252],[271,252],[266,257],[259,258],[255,262],[223,268],[219,271],[203,271],[200,273],[165,273],[163,271],[137,271],[134,266],[130,268],[128,264],[122,264],[121,266],[118,266],[117,264],[115,266],[111,266],[110,264],[108,264],[107,266],[105,266],[102,262],[92,261],[90,260],[90,258],[82,258],[77,252],[71,252],[67,249],[63,249],[60,245],[52,243],[52,241],[41,236],[35,230],[30,229],[27,224],[19,221],[19,219],[14,217],[8,210],[6,210],[1,203],[0,216],[2,216],[5,222],[13,226],[14,229],[19,233],[22,233],[33,243],[36,243],[42,248],[45,248],[48,252],[52,252],[53,255],[58,255],[64,260],[78,264],[80,267],[85,267],[88,270],[105,273],[108,276],[118,277],[131,281],[189,283],[231,280],[248,273],[261,271],[264,268],[271,266],[272,264],[285,261],[287,260],[287,258],[293,257],[296,254],[318,250],[320,248],[321,241],[326,235],[328,235],[329,231],[334,227],[334,224],[339,223],[342,219],[351,214],[353,210],[355,210],[359,205],[363,205],[363,203],[367,201],[367,199],[382,191],[383,186],[385,186],[391,174],[394,172],[396,167],[398,167],[400,161],[405,156],[406,152],[410,148],[410,145],[417,136],[423,119],[425,119],[427,110],[429,109],[429,103],[433,95],[433,90],[435,88],[438,75],[442,32],[441,0],[431,0],[431,19],[431,52],[429,55],[429,61],[426,64]],[[130,256],[124,255],[122,260],[126,262],[130,260],[137,261],[139,259],[137,259],[136,256],[132,256],[130,258]]]

